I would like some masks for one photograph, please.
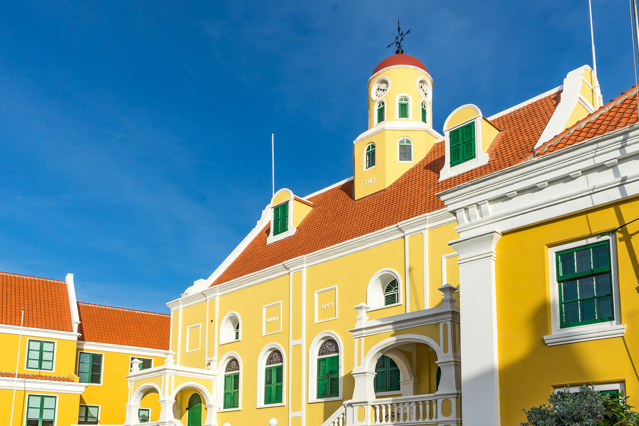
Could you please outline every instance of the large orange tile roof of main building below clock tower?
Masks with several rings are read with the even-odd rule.
[[[356,201],[350,180],[310,197],[315,208],[293,236],[266,245],[270,224],[266,225],[212,285],[443,208],[442,201],[435,195],[438,192],[504,169],[521,153],[530,151],[555,111],[560,93],[545,96],[491,120],[500,133],[488,149],[486,165],[439,182],[444,162],[444,145],[440,141],[426,158],[385,190]]]

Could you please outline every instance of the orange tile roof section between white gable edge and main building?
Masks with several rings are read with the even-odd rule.
[[[78,303],[84,342],[169,349],[171,316],[141,310]]]

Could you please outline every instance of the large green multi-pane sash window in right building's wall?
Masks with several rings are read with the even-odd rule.
[[[610,243],[563,250],[555,257],[561,328],[614,321]]]

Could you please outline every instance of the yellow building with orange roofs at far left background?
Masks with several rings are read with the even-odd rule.
[[[77,303],[72,274],[0,273],[0,296],[0,423],[123,424],[126,376],[164,361],[169,316]],[[158,413],[145,399],[137,420]]]

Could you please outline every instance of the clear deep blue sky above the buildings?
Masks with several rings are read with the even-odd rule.
[[[593,13],[607,102],[635,82],[627,3]],[[168,312],[270,201],[271,133],[276,187],[352,175],[398,16],[439,131],[592,63],[587,0],[0,3],[0,270]]]

